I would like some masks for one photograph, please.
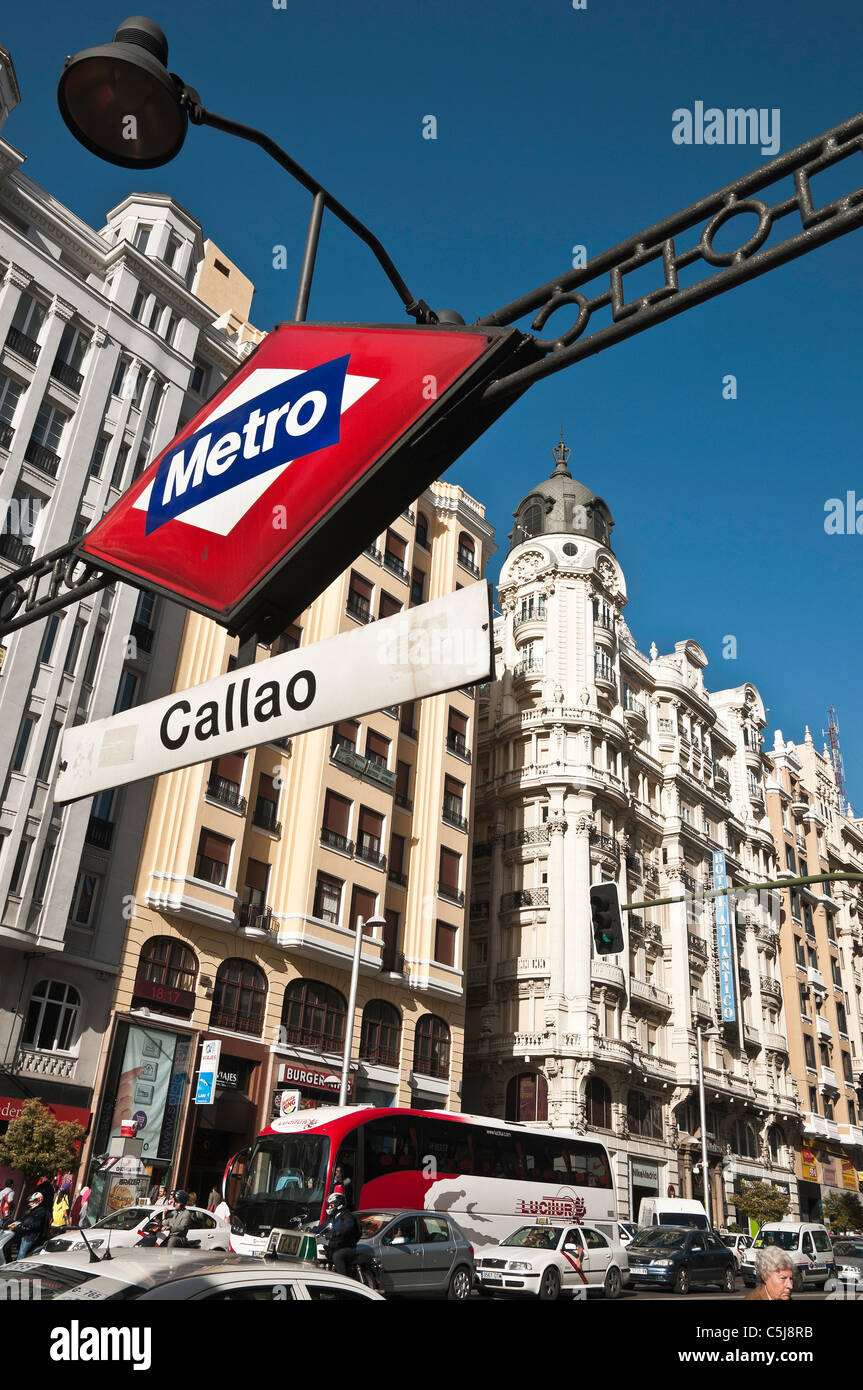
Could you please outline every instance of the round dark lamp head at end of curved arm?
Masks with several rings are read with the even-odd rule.
[[[124,168],[150,170],[179,153],[189,120],[183,85],[168,72],[168,40],[153,19],[124,19],[110,43],[65,60],[57,103],[85,149]]]

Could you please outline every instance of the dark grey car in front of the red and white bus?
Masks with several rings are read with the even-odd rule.
[[[477,1279],[474,1247],[443,1212],[357,1212],[360,1250],[379,1262],[382,1294],[470,1298]]]

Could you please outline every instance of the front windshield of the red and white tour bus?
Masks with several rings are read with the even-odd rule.
[[[235,1204],[247,1226],[282,1226],[297,1216],[318,1220],[327,1188],[329,1140],[321,1134],[258,1138]]]

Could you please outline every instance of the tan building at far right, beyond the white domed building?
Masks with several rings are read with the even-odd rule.
[[[809,730],[798,746],[777,731],[766,790],[780,878],[863,872],[863,827],[837,809],[832,763]],[[831,1191],[859,1191],[863,1168],[862,909],[853,883],[782,892],[788,1048],[803,1109],[794,1156],[800,1213],[812,1220]]]

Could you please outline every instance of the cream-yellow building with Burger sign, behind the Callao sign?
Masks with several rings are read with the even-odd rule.
[[[492,550],[484,507],[436,482],[257,660],[475,582]],[[235,662],[236,639],[189,614],[174,687]],[[124,1106],[149,1106],[153,1172],[206,1191],[283,1088],[336,1099],[346,1026],[354,1102],[460,1108],[472,742],[460,689],[157,778],[92,1152]],[[221,1041],[218,1098],[196,1108],[204,1036]]]

